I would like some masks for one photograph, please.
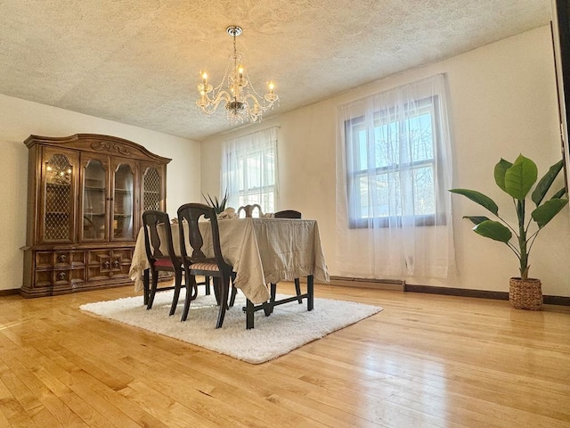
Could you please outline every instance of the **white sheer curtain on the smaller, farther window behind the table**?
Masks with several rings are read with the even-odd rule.
[[[227,206],[257,203],[274,212],[277,198],[277,127],[225,141],[222,147],[222,193]]]

